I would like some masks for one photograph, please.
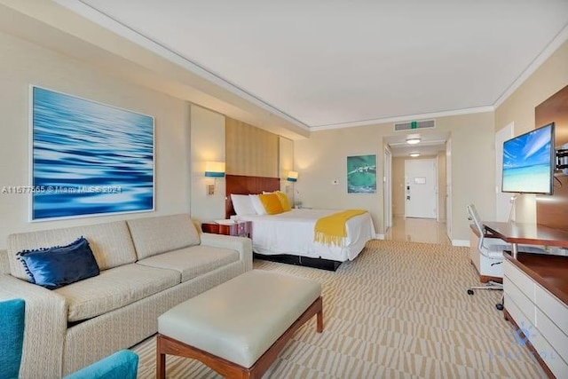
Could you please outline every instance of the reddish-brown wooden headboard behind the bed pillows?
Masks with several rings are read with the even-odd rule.
[[[231,193],[255,194],[263,191],[280,191],[280,178],[247,177],[244,175],[225,176],[225,218],[233,216]]]

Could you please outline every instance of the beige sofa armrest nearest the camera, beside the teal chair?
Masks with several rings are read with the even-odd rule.
[[[12,275],[0,274],[0,299],[26,302],[20,377],[61,377],[67,332],[65,297]]]

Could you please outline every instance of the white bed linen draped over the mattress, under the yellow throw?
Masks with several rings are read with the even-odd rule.
[[[252,221],[252,248],[258,254],[291,254],[344,262],[353,260],[375,238],[375,226],[369,213],[347,220],[347,237],[341,246],[327,246],[313,241],[313,227],[320,217],[339,209],[292,209],[278,215],[247,215],[239,219]]]

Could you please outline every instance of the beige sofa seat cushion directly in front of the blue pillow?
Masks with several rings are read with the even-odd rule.
[[[180,274],[144,265],[122,265],[99,276],[54,289],[67,301],[67,320],[91,319],[114,311],[180,282]]]

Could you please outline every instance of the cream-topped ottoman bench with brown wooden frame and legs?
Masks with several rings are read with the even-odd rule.
[[[321,285],[296,276],[252,270],[195,296],[158,318],[156,376],[166,354],[198,359],[229,378],[260,378],[293,333],[317,314]]]

